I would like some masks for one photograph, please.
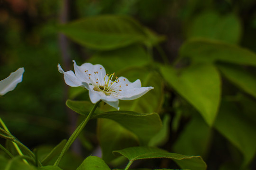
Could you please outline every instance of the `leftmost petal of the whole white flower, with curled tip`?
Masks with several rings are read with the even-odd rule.
[[[82,85],[82,81],[79,80],[75,74],[73,73],[73,71],[67,71],[67,72],[64,72],[64,70],[61,68],[60,64],[58,64],[58,70],[60,73],[64,74],[64,80],[65,80],[65,83],[71,87],[78,87],[78,86],[81,86],[81,87],[85,87],[87,88],[88,85]]]

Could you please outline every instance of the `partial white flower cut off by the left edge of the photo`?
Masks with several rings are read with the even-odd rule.
[[[9,77],[1,80],[0,95],[4,95],[5,93],[15,89],[18,83],[22,82],[23,73],[24,73],[24,68],[18,68],[18,70],[11,73]]]

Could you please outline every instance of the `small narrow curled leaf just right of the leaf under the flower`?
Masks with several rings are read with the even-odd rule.
[[[170,115],[166,114],[163,118],[163,126],[160,131],[149,141],[148,146],[159,146],[167,142],[169,138],[170,129]]]

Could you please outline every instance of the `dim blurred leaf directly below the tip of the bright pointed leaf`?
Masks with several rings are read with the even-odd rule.
[[[186,155],[204,155],[209,148],[210,136],[210,127],[201,117],[194,115],[176,140],[173,146],[174,152]]]

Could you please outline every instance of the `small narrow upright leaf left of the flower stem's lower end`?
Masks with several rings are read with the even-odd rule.
[[[41,161],[42,165],[47,165],[49,161],[52,161],[55,159],[57,160],[56,156],[59,155],[64,148],[64,145],[66,144],[67,140],[62,140],[58,145],[53,148],[53,150]]]

